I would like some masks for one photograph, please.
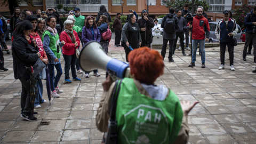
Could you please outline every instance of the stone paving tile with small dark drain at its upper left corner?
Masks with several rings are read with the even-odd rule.
[[[48,125],[39,125],[38,130],[63,130],[66,125],[66,120],[43,120],[42,122],[49,122]]]

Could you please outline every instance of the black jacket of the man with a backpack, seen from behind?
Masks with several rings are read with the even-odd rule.
[[[168,13],[168,14],[163,18],[162,23],[161,23],[161,28],[164,28],[165,21],[166,21],[167,17],[174,19],[174,21],[175,21],[175,29],[176,29],[176,30],[179,30],[179,28],[180,28],[179,19],[178,19],[173,13]],[[169,34],[169,33],[166,33],[165,31],[163,31],[163,38],[164,38],[164,39],[175,39],[175,38],[176,38],[176,33]]]

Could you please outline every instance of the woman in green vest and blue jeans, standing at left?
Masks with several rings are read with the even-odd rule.
[[[50,83],[51,83],[51,90],[52,90],[52,97],[59,98],[58,93],[63,93],[58,87],[58,83],[60,77],[62,75],[62,69],[60,65],[60,55],[61,55],[61,47],[65,45],[65,42],[60,42],[59,35],[57,33],[56,27],[56,19],[52,16],[46,19],[46,28],[42,36],[42,42],[44,50],[47,54],[49,54],[48,60],[48,68],[50,70]],[[57,75],[54,77],[54,67],[57,70]]]

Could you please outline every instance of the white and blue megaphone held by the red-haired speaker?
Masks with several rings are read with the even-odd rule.
[[[106,69],[112,76],[131,77],[129,65],[108,57],[98,41],[90,41],[84,45],[79,55],[79,63],[84,71],[89,72],[100,68]]]

